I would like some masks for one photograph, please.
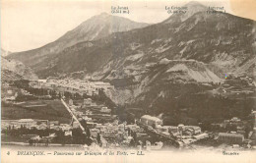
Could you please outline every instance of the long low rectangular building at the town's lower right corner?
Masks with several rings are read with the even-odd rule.
[[[219,139],[228,142],[228,143],[241,143],[244,140],[244,136],[240,134],[229,134],[229,133],[220,133]]]

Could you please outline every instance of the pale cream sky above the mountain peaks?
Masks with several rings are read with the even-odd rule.
[[[206,6],[206,0],[197,0]],[[188,0],[2,0],[1,47],[19,52],[52,42],[81,23],[111,6],[128,7],[125,17],[135,22],[156,24],[170,15],[165,6],[183,6]],[[247,3],[246,3],[247,2]],[[256,20],[256,0],[211,0],[211,6],[228,13]]]

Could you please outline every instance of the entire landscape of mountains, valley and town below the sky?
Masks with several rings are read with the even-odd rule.
[[[54,143],[255,146],[256,22],[182,8],[153,25],[101,13],[42,47],[5,52],[6,130],[39,119],[47,124],[33,120],[29,133],[58,131]]]

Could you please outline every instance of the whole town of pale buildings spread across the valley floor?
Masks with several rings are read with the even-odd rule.
[[[203,130],[204,124],[166,126],[159,117],[147,114],[140,118],[133,117],[132,122],[127,122],[119,119],[115,106],[105,95],[110,90],[114,90],[114,86],[102,81],[5,83],[3,107],[42,108],[53,100],[59,102],[59,107],[66,112],[67,121],[32,117],[2,120],[2,143],[22,141],[24,144],[46,146],[78,144],[87,149],[128,147],[160,150],[173,146],[193,149],[202,143],[225,144],[240,149],[255,148],[256,111],[251,112],[254,122],[233,117],[222,123],[212,123],[211,131]],[[103,100],[98,100],[102,97]],[[54,103],[54,106],[57,105]]]

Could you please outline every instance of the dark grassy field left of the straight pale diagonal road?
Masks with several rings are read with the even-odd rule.
[[[26,101],[20,105],[2,103],[2,120],[40,119],[70,123],[71,116],[60,100]]]

